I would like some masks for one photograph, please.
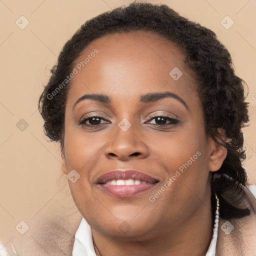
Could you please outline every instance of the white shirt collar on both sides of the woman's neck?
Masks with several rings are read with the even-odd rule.
[[[216,195],[215,195],[216,196]],[[218,221],[219,221],[219,203],[218,198],[216,203],[216,211],[215,211],[215,220],[214,220],[214,228],[213,235],[205,256],[215,256],[216,251],[216,241],[217,241],[217,233],[218,233]],[[96,256],[93,241],[92,241],[92,233],[89,224],[86,222],[84,218],[82,218],[80,225],[75,233],[74,245],[72,256]]]

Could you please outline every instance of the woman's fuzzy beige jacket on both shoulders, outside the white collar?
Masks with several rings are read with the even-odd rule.
[[[249,189],[244,186],[241,187],[245,191],[242,203],[235,205],[235,202],[232,201],[232,191],[223,194],[223,197],[235,206],[240,208],[247,207],[251,213],[249,216],[242,218],[228,219],[234,226],[233,230],[228,234],[223,231],[227,220],[219,218],[216,256],[256,255],[256,199]],[[256,192],[256,185],[254,189]],[[64,196],[59,193],[58,197],[53,198],[28,223],[29,230],[25,234],[14,234],[14,237],[5,245],[9,253],[6,255],[72,255],[74,234],[82,216],[74,205],[70,194],[67,196],[66,193],[67,191]],[[16,254],[11,244],[13,244]],[[3,253],[4,249],[0,250],[0,256],[5,256]]]

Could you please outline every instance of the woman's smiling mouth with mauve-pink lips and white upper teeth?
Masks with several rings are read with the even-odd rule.
[[[114,170],[99,177],[103,192],[115,197],[130,197],[154,187],[159,180],[135,170]]]

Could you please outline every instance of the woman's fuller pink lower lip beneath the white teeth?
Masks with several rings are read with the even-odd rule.
[[[144,192],[155,186],[156,183],[139,184],[139,185],[110,185],[100,184],[102,190],[115,197],[130,197]]]

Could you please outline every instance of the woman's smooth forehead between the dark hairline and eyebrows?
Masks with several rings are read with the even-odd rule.
[[[73,67],[78,71],[70,82],[74,97],[102,91],[127,97],[144,94],[145,90],[181,94],[195,90],[182,49],[149,31],[117,32],[95,39]]]

